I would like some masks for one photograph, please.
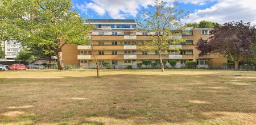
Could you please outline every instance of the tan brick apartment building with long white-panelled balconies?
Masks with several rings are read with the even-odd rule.
[[[147,32],[137,31],[134,20],[115,19],[91,19],[90,24],[96,27],[90,39],[92,45],[65,45],[63,48],[63,60],[66,64],[80,65],[82,68],[96,66],[94,54],[100,64],[109,62],[114,66],[132,65],[144,60],[159,63],[158,52],[143,51],[142,41],[152,40]],[[199,68],[208,68],[209,65],[224,65],[227,59],[219,55],[198,56],[195,49],[196,42],[203,38],[209,38],[210,28],[187,28],[175,38],[183,38],[187,41],[180,44],[170,43],[170,48],[179,48],[180,52],[163,51],[162,59],[177,60],[176,67],[185,64],[185,61],[197,61]],[[94,49],[94,53],[92,51]],[[168,63],[167,63],[168,65]]]

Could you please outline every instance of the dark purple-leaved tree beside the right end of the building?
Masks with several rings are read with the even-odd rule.
[[[253,55],[253,39],[255,31],[250,23],[229,22],[210,31],[209,41],[201,38],[196,44],[196,49],[200,51],[200,56],[206,53],[230,56],[238,68],[242,59]]]

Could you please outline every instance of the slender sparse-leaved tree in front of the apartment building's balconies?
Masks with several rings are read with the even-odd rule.
[[[162,61],[162,51],[164,49],[171,49],[169,43],[185,42],[184,39],[174,39],[179,33],[175,30],[181,30],[181,19],[187,17],[188,13],[184,14],[184,10],[177,10],[177,5],[165,6],[164,2],[156,0],[156,6],[151,6],[151,12],[142,12],[142,18],[138,18],[139,30],[147,32],[152,37],[151,41],[144,41],[144,49],[150,51],[157,51],[160,60],[162,72],[164,72],[164,65]]]

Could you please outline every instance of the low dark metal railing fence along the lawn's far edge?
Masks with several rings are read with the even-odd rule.
[[[79,65],[64,65],[67,70],[71,69],[96,69],[96,66],[79,66]],[[138,67],[137,65],[110,65],[105,67],[99,65],[99,69],[160,69],[160,65],[142,65]],[[172,66],[164,66],[165,69],[212,69],[212,70],[247,70],[256,71],[256,66],[254,65],[240,65],[236,68],[234,65],[222,65],[222,66],[212,66],[209,65],[208,68],[199,68],[199,66],[185,66],[179,65],[172,68]],[[23,68],[18,68],[22,70]],[[57,65],[26,65],[26,69],[29,70],[57,70]]]

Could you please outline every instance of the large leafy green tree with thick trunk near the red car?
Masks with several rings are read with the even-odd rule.
[[[90,43],[90,26],[72,10],[71,0],[2,0],[0,6],[0,40],[12,38],[54,52],[59,70],[64,69],[64,45]]]

